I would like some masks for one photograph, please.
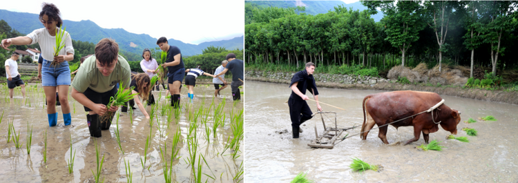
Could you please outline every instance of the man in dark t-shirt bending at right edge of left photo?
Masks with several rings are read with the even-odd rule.
[[[227,61],[229,61],[229,64],[227,64],[221,73],[215,75],[215,77],[224,75],[228,70],[230,70],[232,73],[232,84],[230,84],[230,88],[232,88],[232,98],[233,100],[238,100],[241,99],[241,93],[238,87],[243,85],[244,81],[244,63],[242,60],[236,59],[236,54],[233,53],[229,53],[229,55],[227,55]],[[225,81],[224,84],[226,85],[227,82]]]

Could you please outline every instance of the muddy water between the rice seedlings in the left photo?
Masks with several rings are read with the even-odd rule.
[[[30,84],[34,85],[34,84]],[[149,126],[148,119],[137,109],[134,110],[133,124],[131,123],[128,113],[121,114],[119,118],[119,131],[121,137],[122,148],[125,151],[122,154],[119,151],[115,128],[117,125],[112,124],[108,131],[102,131],[102,137],[90,137],[88,125],[86,124],[86,113],[84,108],[72,97],[69,97],[70,111],[72,113],[72,125],[64,126],[61,107],[57,107],[58,122],[57,126],[49,127],[44,104],[43,90],[40,86],[28,89],[28,99],[22,99],[19,90],[15,90],[15,98],[6,99],[6,86],[0,86],[0,110],[4,111],[3,119],[0,124],[0,182],[93,182],[93,173],[96,168],[95,144],[99,146],[101,156],[104,155],[104,164],[102,165],[102,178],[104,182],[126,182],[126,173],[124,160],[129,161],[131,172],[133,173],[133,182],[164,182],[164,174],[162,165],[164,160],[160,155],[160,147],[164,149],[164,143],[167,143],[167,157],[165,158],[169,164],[171,156],[171,144],[173,135],[177,128],[180,128],[182,137],[179,143],[180,153],[179,159],[173,160],[173,182],[193,182],[193,172],[191,166],[186,163],[189,157],[189,150],[186,142],[187,133],[189,133],[189,111],[193,113],[202,105],[202,98],[205,99],[205,108],[209,108],[212,102],[213,86],[199,85],[195,87],[195,99],[193,104],[185,106],[188,102],[186,90],[182,90],[182,115],[178,124],[171,122],[169,128],[166,125],[166,116],[160,115],[157,111],[157,119],[155,119],[153,127]],[[158,104],[165,102],[164,90]],[[158,92],[153,92],[155,99],[158,98]],[[203,163],[202,173],[215,177],[212,180],[207,175],[202,175],[202,180],[209,179],[209,182],[235,182],[233,177],[239,170],[239,166],[243,161],[240,151],[240,157],[232,159],[233,151],[227,150],[222,152],[227,144],[229,137],[233,138],[230,127],[229,112],[242,110],[243,104],[239,102],[236,106],[232,106],[232,98],[230,90],[222,90],[221,95],[214,99],[214,104],[218,105],[222,101],[226,102],[224,113],[227,120],[223,127],[217,128],[217,135],[210,135],[210,142],[207,142],[205,127],[200,122],[197,129],[198,151],[203,155],[207,164]],[[170,104],[170,103],[168,103]],[[74,112],[75,108],[75,112]],[[207,122],[207,128],[213,128],[213,108]],[[151,106],[146,106],[146,110],[151,110]],[[14,120],[14,127],[17,133],[21,133],[19,139],[23,143],[21,148],[15,148],[15,144],[11,141],[7,143],[8,121]],[[160,122],[160,124],[157,123]],[[33,126],[32,145],[30,155],[26,151],[27,139],[27,123]],[[160,128],[164,131],[161,137]],[[47,162],[43,160],[43,137],[44,131],[48,135]],[[151,131],[151,144],[147,152],[147,161],[145,168],[142,168],[140,157],[144,157],[144,146],[146,137]],[[168,135],[169,133],[169,135]],[[75,164],[73,173],[68,173],[67,160],[70,159],[70,135],[72,139],[72,149],[75,151]],[[196,164],[198,160],[196,160]],[[198,165],[195,166],[198,168]],[[210,169],[209,169],[210,168]]]

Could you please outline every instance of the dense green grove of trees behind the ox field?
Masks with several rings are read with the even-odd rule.
[[[367,10],[245,5],[247,64],[517,68],[517,1],[362,1]],[[375,22],[370,15],[383,12]],[[299,12],[297,14],[297,12]],[[472,57],[474,50],[474,57]],[[301,65],[302,64],[302,65]],[[490,70],[491,71],[491,70]]]

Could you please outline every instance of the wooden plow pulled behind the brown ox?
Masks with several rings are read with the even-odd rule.
[[[323,113],[334,113],[334,127],[325,126]],[[311,143],[307,144],[307,146],[314,147],[314,148],[333,148],[335,144],[338,144],[338,142],[342,142],[347,135],[344,137],[340,137],[344,131],[354,129],[358,126],[353,126],[351,128],[338,128],[338,125],[336,124],[336,113],[335,112],[316,112],[311,116],[315,116],[316,114],[320,114],[320,118],[322,119],[322,124],[324,126],[324,133],[321,133],[318,135],[318,132],[316,130],[316,122],[315,122],[315,136],[316,139],[312,140]]]

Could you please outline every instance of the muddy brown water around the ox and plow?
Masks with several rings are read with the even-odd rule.
[[[457,137],[468,137],[469,143],[445,139],[450,133],[439,128],[430,134],[430,141],[441,142],[443,151],[420,151],[415,146],[424,143],[423,137],[407,146],[397,144],[413,137],[412,127],[388,128],[385,145],[373,130],[367,140],[359,135],[345,139],[332,149],[310,148],[315,138],[314,126],[323,132],[320,116],[305,122],[299,139],[291,138],[289,108],[285,104],[291,90],[286,84],[256,81],[246,83],[245,104],[245,181],[289,182],[300,172],[316,182],[517,182],[518,181],[518,106],[484,102],[459,97],[442,96],[445,104],[461,111],[462,121],[470,117],[493,115],[497,122],[461,122]],[[361,102],[374,90],[343,90],[319,88],[319,100],[338,110],[322,105],[325,111],[336,111],[338,127],[351,127],[363,123]],[[307,93],[310,98],[311,94]],[[315,102],[308,102],[316,111]],[[396,109],[395,109],[396,110]],[[334,121],[334,115],[327,115]],[[325,117],[327,125],[332,121]],[[478,131],[477,137],[466,135],[460,128]],[[276,131],[287,129],[288,133]],[[354,135],[360,131],[348,131]],[[380,164],[380,172],[353,172],[351,158]]]

